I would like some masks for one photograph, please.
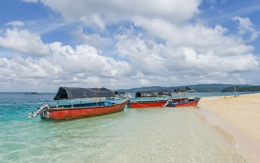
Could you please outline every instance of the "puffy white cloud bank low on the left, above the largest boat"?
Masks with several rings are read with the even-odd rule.
[[[89,45],[79,45],[74,50],[71,46],[54,42],[50,44],[50,48],[52,55],[40,59],[23,59],[20,56],[10,60],[1,58],[0,76],[8,77],[6,87],[2,89],[8,90],[10,85],[14,85],[12,89],[20,86],[21,91],[37,87],[45,87],[41,91],[50,91],[61,85],[89,87],[93,82],[97,83],[98,87],[111,86],[118,84],[109,83],[111,79],[117,81],[122,76],[132,74],[132,67],[128,62],[98,55],[97,50]],[[31,84],[26,86],[26,80]]]

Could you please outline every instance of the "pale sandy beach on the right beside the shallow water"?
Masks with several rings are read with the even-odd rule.
[[[260,93],[201,98],[199,114],[234,137],[234,150],[260,162]]]

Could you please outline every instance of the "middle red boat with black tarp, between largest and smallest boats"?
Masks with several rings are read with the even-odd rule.
[[[144,90],[138,91],[135,93],[135,98],[144,98],[144,97],[151,97],[150,101],[128,101],[126,106],[129,108],[138,108],[138,107],[158,107],[163,106],[167,102],[167,100],[159,100],[159,97],[171,96],[170,90]],[[152,97],[157,97],[157,100],[152,101]],[[182,100],[188,98],[182,98]],[[181,101],[180,98],[172,99],[174,102]]]

